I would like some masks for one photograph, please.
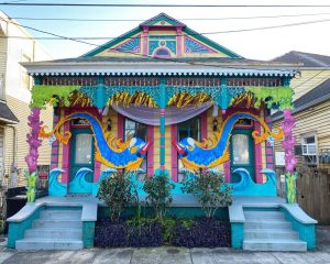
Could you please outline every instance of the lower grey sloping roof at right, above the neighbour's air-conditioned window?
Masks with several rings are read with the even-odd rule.
[[[330,100],[330,79],[324,80],[322,84],[318,85],[316,88],[311,89],[294,101],[295,108],[293,112],[297,113],[304,111],[305,109],[322,103],[327,100]],[[276,112],[272,117],[273,121],[282,118],[282,112]]]

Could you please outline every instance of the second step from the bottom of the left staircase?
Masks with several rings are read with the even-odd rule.
[[[43,239],[82,239],[82,230],[74,228],[35,228],[28,229],[24,233],[25,239],[43,238]]]

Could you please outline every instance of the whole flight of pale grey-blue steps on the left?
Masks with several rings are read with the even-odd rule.
[[[81,250],[81,210],[43,210],[40,219],[18,240],[16,250]]]

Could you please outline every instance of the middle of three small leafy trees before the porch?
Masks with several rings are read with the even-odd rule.
[[[156,219],[160,221],[163,221],[163,217],[173,201],[170,194],[173,187],[166,174],[154,175],[144,183],[143,190],[147,194],[145,201],[153,207]]]

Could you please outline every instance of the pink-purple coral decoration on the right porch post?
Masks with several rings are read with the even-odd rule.
[[[294,173],[297,158],[295,157],[295,143],[296,138],[293,136],[293,130],[295,128],[295,118],[292,116],[292,111],[286,109],[283,111],[284,122],[283,122],[283,131],[284,131],[284,141],[282,142],[282,146],[285,151],[285,167],[286,170],[290,174]]]

